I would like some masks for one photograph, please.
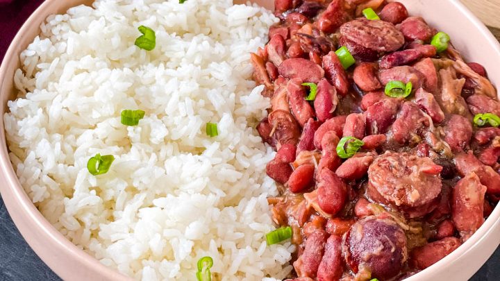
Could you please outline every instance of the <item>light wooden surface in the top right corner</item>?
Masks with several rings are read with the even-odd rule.
[[[500,40],[500,0],[460,0]]]

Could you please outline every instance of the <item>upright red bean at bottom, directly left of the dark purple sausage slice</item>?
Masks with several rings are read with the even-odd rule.
[[[342,255],[342,238],[331,235],[326,240],[326,246],[317,271],[318,281],[337,281],[344,273],[344,256]]]

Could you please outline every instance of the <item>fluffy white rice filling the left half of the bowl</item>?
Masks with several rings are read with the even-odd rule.
[[[284,278],[294,247],[265,242],[274,153],[253,129],[269,100],[249,63],[274,22],[231,0],[98,0],[49,17],[22,53],[4,116],[40,212],[138,280],[195,280],[203,256],[216,280]],[[156,31],[151,52],[134,45],[140,25]],[[127,127],[125,109],[146,116]],[[96,153],[116,158],[101,176],[86,167]]]

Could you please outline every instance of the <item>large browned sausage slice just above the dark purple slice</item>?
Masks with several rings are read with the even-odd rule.
[[[386,152],[368,169],[369,188],[392,205],[422,206],[440,194],[441,170],[429,157]]]

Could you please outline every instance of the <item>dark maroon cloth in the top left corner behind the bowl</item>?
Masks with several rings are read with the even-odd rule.
[[[0,0],[0,61],[10,42],[43,0]]]

